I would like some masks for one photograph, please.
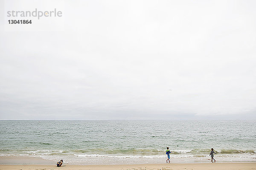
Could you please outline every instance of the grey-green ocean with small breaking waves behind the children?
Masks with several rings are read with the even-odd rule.
[[[0,121],[0,156],[68,164],[256,162],[256,120]],[[33,162],[36,164],[36,162]]]

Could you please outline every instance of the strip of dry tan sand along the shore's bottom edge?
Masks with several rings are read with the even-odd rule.
[[[0,165],[0,170],[256,170],[256,163],[130,165]]]

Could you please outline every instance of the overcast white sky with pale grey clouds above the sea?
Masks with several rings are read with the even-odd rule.
[[[256,1],[54,2],[60,31],[1,12],[0,119],[256,119]]]

